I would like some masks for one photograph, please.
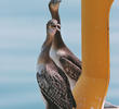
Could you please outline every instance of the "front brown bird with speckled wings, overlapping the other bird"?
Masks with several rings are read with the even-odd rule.
[[[76,108],[76,101],[68,78],[49,56],[52,39],[57,31],[60,31],[57,21],[49,21],[47,39],[42,45],[37,63],[37,81],[45,100],[47,109],[72,109]]]

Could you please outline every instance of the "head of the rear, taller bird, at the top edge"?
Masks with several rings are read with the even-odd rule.
[[[58,8],[60,8],[60,2],[62,0],[51,0],[50,3],[49,3],[49,8],[51,11],[57,11]]]

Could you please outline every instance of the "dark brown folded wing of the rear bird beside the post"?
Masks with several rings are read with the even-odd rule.
[[[80,74],[81,74],[81,69],[78,68],[72,61],[70,61],[67,57],[61,57],[60,62],[67,73],[71,78],[78,81]]]

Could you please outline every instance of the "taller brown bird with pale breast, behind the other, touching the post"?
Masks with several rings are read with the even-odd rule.
[[[61,24],[58,14],[60,2],[61,0],[51,0],[49,3],[49,9],[52,19],[57,20]],[[72,89],[82,71],[81,61],[64,44],[61,32],[56,32],[55,34],[50,56],[56,65],[65,72]]]

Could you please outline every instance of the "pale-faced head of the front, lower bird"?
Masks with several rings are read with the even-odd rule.
[[[49,36],[54,36],[57,31],[61,31],[61,25],[57,23],[56,20],[50,20],[47,24],[47,34]]]

